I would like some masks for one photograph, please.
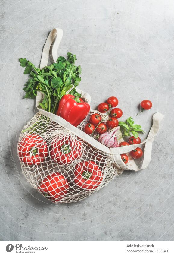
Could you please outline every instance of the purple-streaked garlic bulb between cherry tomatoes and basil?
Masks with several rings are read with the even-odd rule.
[[[108,132],[104,132],[99,136],[98,141],[109,148],[118,147],[119,141],[117,139],[117,132],[119,130],[120,126],[117,126]]]

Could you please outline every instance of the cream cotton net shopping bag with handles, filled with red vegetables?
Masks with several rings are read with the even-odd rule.
[[[40,68],[47,65],[49,49],[54,40],[52,56],[56,60],[62,35],[60,29],[50,32]],[[84,101],[90,103],[88,93],[79,93]],[[160,113],[153,116],[153,126],[145,141],[136,145],[108,148],[84,133],[83,127],[89,116],[78,127],[74,127],[60,116],[41,109],[39,103],[42,102],[42,96],[42,93],[37,93],[36,106],[39,112],[23,128],[17,151],[26,179],[48,200],[54,203],[80,201],[107,185],[124,169],[138,171],[129,152],[143,144],[144,161],[141,169],[148,166],[152,142],[163,119]],[[91,110],[90,114],[95,112]],[[123,153],[129,156],[126,165],[120,156]]]

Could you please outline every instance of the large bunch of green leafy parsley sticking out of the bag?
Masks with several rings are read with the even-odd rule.
[[[56,63],[46,66],[42,70],[36,68],[33,63],[20,58],[20,66],[25,67],[24,74],[29,74],[29,80],[24,85],[26,92],[25,98],[33,99],[37,91],[44,94],[44,99],[40,104],[42,109],[55,113],[59,100],[67,92],[76,97],[81,95],[77,93],[76,86],[79,85],[81,78],[81,67],[75,65],[76,55],[67,53],[67,59],[60,56]]]

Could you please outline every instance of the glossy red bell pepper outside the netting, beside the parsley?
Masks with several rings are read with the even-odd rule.
[[[78,126],[88,115],[90,105],[81,98],[73,95],[64,95],[59,101],[56,115],[61,116],[74,126]]]

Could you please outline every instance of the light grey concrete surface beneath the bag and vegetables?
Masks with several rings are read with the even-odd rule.
[[[173,68],[172,0],[8,0],[0,2],[2,241],[173,241]],[[83,201],[50,204],[21,174],[20,131],[36,113],[23,99],[18,58],[39,65],[49,31],[62,28],[58,51],[77,55],[80,88],[92,107],[115,95],[122,120],[132,116],[146,134],[152,115],[165,115],[152,160],[139,172],[123,172]],[[138,104],[153,108],[137,117]],[[141,164],[141,162],[139,163]]]

